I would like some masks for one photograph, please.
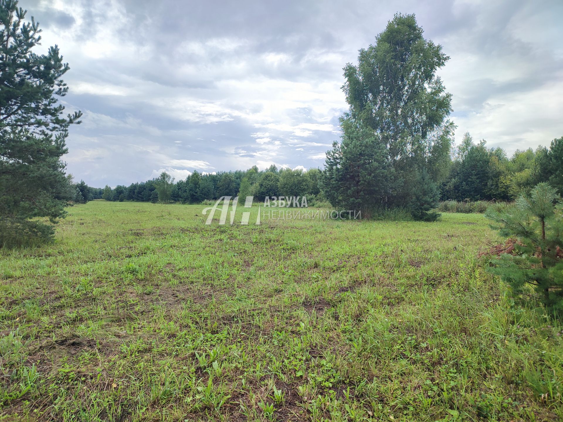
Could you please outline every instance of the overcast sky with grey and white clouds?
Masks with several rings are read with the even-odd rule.
[[[456,140],[563,136],[563,2],[20,0],[70,64],[68,170],[91,186],[166,170],[321,167],[346,110],[342,67],[395,12],[451,57]],[[37,51],[37,52],[39,52]]]

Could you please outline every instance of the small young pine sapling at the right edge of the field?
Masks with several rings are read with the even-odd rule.
[[[517,239],[515,254],[491,260],[490,271],[501,276],[517,295],[528,294],[548,309],[563,311],[563,209],[549,183],[522,194],[508,212],[489,209],[485,216],[503,237]]]

